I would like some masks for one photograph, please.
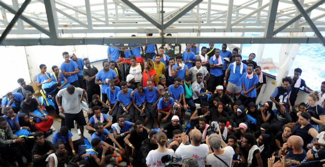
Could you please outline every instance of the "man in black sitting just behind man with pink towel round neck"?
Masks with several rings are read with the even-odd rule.
[[[211,115],[209,111],[209,103],[202,102],[201,108],[195,110],[190,117],[189,123],[192,127],[198,124],[198,119],[204,117],[209,125],[211,125]]]

